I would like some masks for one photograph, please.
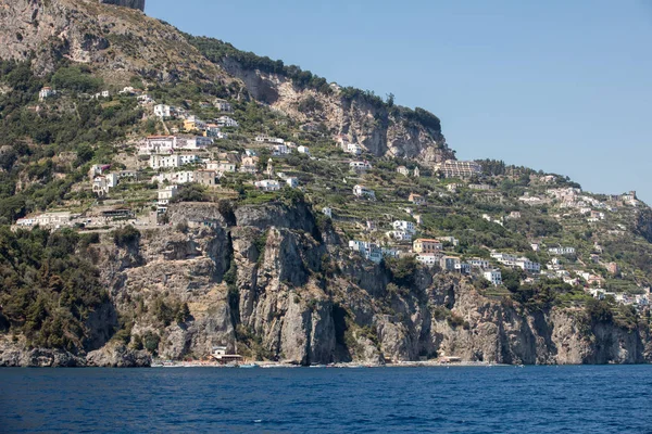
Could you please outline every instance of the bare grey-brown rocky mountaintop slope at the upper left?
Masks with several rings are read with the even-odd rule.
[[[142,9],[143,0],[104,3]],[[0,59],[26,60],[52,72],[62,59],[86,64],[109,84],[134,75],[171,81],[227,80],[172,26],[137,10],[95,0],[11,0],[0,2]]]

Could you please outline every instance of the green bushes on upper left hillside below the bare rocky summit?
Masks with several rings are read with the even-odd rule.
[[[76,66],[59,71],[59,75],[54,74],[57,79],[72,82],[73,87],[79,81],[71,81],[71,77],[92,77]],[[72,104],[60,104],[54,99],[52,106],[30,110],[28,106],[46,82],[34,75],[29,62],[0,62],[0,82],[13,88],[0,94],[0,165],[9,170],[0,173],[0,225],[68,199],[72,186],[86,175],[83,165],[93,158],[110,162],[113,150],[105,143],[124,137],[142,115],[134,100],[115,101],[103,107],[99,101],[87,98],[74,99]],[[28,145],[29,142],[36,145]],[[76,153],[77,161],[71,167],[57,167],[51,158],[61,152]],[[21,174],[32,182],[16,191]]]

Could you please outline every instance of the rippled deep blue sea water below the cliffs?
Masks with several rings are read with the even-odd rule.
[[[0,369],[2,433],[652,433],[652,366]]]

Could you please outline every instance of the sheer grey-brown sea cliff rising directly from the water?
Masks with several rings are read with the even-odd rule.
[[[390,284],[383,267],[324,242],[337,237],[322,233],[302,203],[242,206],[226,216],[211,204],[183,204],[170,213],[175,222],[145,233],[139,245],[105,242],[93,253],[115,309],[133,321],[131,344],[155,336],[164,358],[203,358],[212,346],[227,345],[252,358],[302,365],[444,354],[499,363],[652,360],[644,328],[593,323],[584,310],[529,311],[425,269],[409,288]],[[170,309],[186,303],[190,316],[164,321],[162,303]],[[0,345],[0,363],[149,362],[114,341],[85,358],[20,348]]]

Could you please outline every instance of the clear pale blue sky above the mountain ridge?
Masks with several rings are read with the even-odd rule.
[[[652,203],[652,0],[148,0],[146,12],[427,108],[460,158]]]

